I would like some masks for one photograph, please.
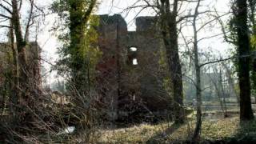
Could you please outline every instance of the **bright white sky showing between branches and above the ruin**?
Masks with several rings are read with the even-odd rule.
[[[49,7],[50,3],[52,3],[54,0],[37,0],[35,2],[38,2],[40,6]],[[137,2],[138,0],[102,0],[100,4],[98,5],[98,9],[95,10],[96,14],[122,14],[122,17],[125,18],[127,24],[128,24],[128,30],[136,30],[136,26],[134,26],[134,17],[136,16],[153,16],[154,11],[153,10],[143,10],[140,14],[138,12],[140,9],[133,9],[130,10],[130,12],[127,14],[125,9],[128,6],[131,6],[134,4],[134,2]],[[229,10],[229,2],[230,0],[205,0],[205,2],[210,2],[216,4],[216,9],[220,12],[225,13],[227,10]],[[193,7],[193,4],[191,5],[184,5],[183,9],[190,9],[190,7]],[[26,9],[26,6],[24,6],[24,9]],[[202,7],[202,9],[204,9]],[[137,15],[138,14],[138,15]],[[207,18],[205,18],[207,20]],[[54,25],[54,22],[58,20],[54,14],[50,14],[46,16],[46,21],[42,23],[42,27],[39,35],[38,35],[38,44],[42,47],[42,58],[46,58],[47,61],[54,63],[54,61],[58,58],[57,48],[59,46],[58,38],[56,35],[54,35],[53,31],[50,31],[52,26]],[[1,31],[0,31],[1,32]],[[182,30],[182,33],[185,34],[188,38],[191,36],[191,27],[185,28]],[[199,33],[199,38],[204,37],[206,35],[210,36],[212,34],[219,34],[221,33],[221,30],[213,26],[210,29],[202,30],[201,33]],[[226,54],[227,50],[230,50],[230,46],[223,42],[222,37],[218,38],[211,38],[210,40],[205,40],[199,43],[199,47],[202,50],[206,49],[212,49],[220,51],[221,54]],[[182,41],[180,41],[182,43]],[[50,66],[46,63],[43,64],[46,66],[47,70],[50,70]],[[49,79],[54,79],[54,74],[49,75]]]

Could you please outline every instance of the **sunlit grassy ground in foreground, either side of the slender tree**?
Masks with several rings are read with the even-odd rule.
[[[170,143],[185,142],[193,132],[194,122],[174,125],[162,122],[157,125],[141,124],[115,130],[101,130],[98,143]],[[202,123],[202,141],[236,141],[245,139],[256,142],[256,121],[239,122],[238,117],[207,120]]]

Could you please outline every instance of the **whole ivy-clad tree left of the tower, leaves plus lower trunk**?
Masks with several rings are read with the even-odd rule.
[[[93,122],[93,114],[89,114],[91,99],[94,95],[96,65],[101,57],[98,49],[98,18],[93,16],[96,0],[56,0],[52,10],[62,19],[54,30],[62,47],[58,52],[58,72],[66,75],[67,93],[72,95],[72,116],[76,129],[89,129]],[[58,19],[59,20],[59,19]]]

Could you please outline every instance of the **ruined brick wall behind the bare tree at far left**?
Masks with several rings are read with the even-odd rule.
[[[14,44],[16,46],[16,44]],[[41,69],[41,48],[37,42],[29,42],[26,46],[26,60],[28,66],[28,77],[30,78],[30,86],[33,86],[35,93],[39,93],[42,90],[42,79],[40,74]],[[11,70],[14,70],[13,57],[10,42],[0,43],[0,107],[4,102],[4,95],[2,91],[6,90],[6,83],[8,79],[14,78],[14,75],[10,75]],[[9,81],[9,80],[8,80]]]

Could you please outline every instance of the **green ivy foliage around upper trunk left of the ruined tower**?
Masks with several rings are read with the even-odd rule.
[[[93,86],[95,66],[101,57],[96,44],[98,18],[91,15],[95,4],[95,0],[57,0],[51,7],[61,20],[54,27],[61,32],[58,38],[62,42],[58,72],[70,75],[72,86],[68,87],[75,87],[81,94]]]

